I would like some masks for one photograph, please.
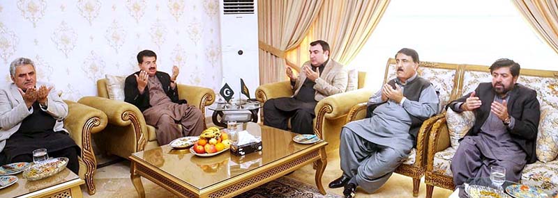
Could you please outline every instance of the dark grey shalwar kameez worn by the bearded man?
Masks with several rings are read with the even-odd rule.
[[[508,101],[509,94],[506,98],[495,96],[494,101],[502,103],[504,99]],[[492,165],[506,168],[506,180],[520,181],[521,170],[527,163],[527,154],[511,139],[506,129],[513,129],[514,125],[515,119],[511,119],[506,126],[502,119],[490,112],[478,135],[465,136],[455,151],[451,160],[453,183],[461,185],[469,178],[489,177]]]

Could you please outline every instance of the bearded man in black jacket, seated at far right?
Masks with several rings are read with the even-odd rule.
[[[492,166],[504,167],[506,180],[519,182],[525,164],[536,161],[541,112],[536,91],[516,83],[519,73],[518,63],[498,59],[490,66],[492,83],[480,83],[446,106],[457,113],[471,110],[476,117],[451,160],[455,186],[469,178],[489,177]]]

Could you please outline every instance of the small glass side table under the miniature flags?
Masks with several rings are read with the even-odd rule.
[[[221,127],[227,127],[227,119],[225,119],[225,116],[229,116],[235,121],[246,120],[257,122],[259,108],[262,108],[259,101],[243,101],[241,104],[238,102],[229,104],[218,101],[209,106],[209,110],[213,110],[211,121],[213,121],[213,124],[216,126]]]

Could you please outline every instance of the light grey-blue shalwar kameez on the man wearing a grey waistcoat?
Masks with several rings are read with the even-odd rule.
[[[416,74],[400,84],[405,87],[417,78]],[[414,137],[409,133],[412,117],[428,118],[438,111],[438,97],[432,87],[420,92],[418,101],[405,99],[401,104],[388,100],[382,104],[382,90],[376,92],[368,104],[381,104],[372,117],[349,122],[343,126],[340,141],[341,169],[349,183],[372,193],[380,188],[403,160],[409,156]]]

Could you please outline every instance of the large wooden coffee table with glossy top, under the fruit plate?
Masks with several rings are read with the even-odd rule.
[[[189,149],[169,145],[130,156],[130,173],[140,197],[145,197],[144,177],[179,197],[234,197],[278,179],[303,165],[316,163],[315,182],[322,195],[322,175],[326,168],[327,142],[301,145],[292,140],[296,133],[247,122],[243,129],[262,138],[262,151],[234,156],[225,151],[200,157]]]

